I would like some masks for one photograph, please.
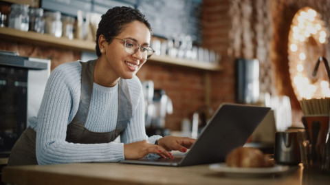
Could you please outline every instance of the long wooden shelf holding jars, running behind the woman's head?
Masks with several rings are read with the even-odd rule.
[[[12,41],[24,41],[39,45],[55,46],[67,48],[71,50],[95,52],[96,43],[92,41],[83,41],[78,39],[69,40],[67,38],[57,38],[50,34],[39,34],[37,32],[23,32],[12,28],[0,28],[0,40],[9,39]],[[192,67],[203,69],[206,71],[219,72],[221,66],[203,61],[190,61],[180,58],[171,58],[170,56],[151,56],[149,59],[152,62],[162,63],[167,65],[179,65],[184,67]]]

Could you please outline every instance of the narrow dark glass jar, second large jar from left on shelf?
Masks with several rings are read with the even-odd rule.
[[[45,32],[43,8],[30,8],[29,18],[29,30],[43,34]]]

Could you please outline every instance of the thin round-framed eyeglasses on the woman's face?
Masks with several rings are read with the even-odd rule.
[[[148,46],[141,46],[140,44],[138,44],[137,42],[131,40],[131,39],[119,39],[116,37],[113,37],[113,39],[118,39],[120,41],[124,41],[124,47],[125,47],[125,52],[127,54],[135,54],[137,52],[137,50],[141,50],[141,54],[142,54],[142,58],[143,59],[148,59],[150,58],[153,53],[155,52],[153,50],[153,48],[148,47]]]

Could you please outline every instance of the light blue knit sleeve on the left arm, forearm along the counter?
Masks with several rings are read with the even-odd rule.
[[[72,85],[76,83],[72,83],[72,78],[76,76],[72,72],[65,72],[65,67],[59,66],[58,68],[52,72],[47,82],[38,114],[36,128],[38,163],[118,162],[123,160],[124,145],[122,143],[74,144],[65,141],[69,114],[72,111],[75,96]]]

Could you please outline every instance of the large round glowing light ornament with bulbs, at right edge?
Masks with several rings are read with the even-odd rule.
[[[329,31],[324,26],[320,14],[311,8],[302,8],[294,16],[292,20],[291,30],[289,32],[289,50],[288,59],[290,67],[290,78],[292,78],[292,86],[294,92],[300,100],[301,98],[322,98],[330,96],[330,88],[327,76],[318,76],[316,80],[309,80],[311,77],[310,70],[305,67],[311,67],[311,58],[307,58],[309,51],[307,50],[307,42],[311,38],[318,42],[318,45],[327,43]],[[314,66],[313,66],[314,67]],[[319,69],[320,70],[320,69]]]

